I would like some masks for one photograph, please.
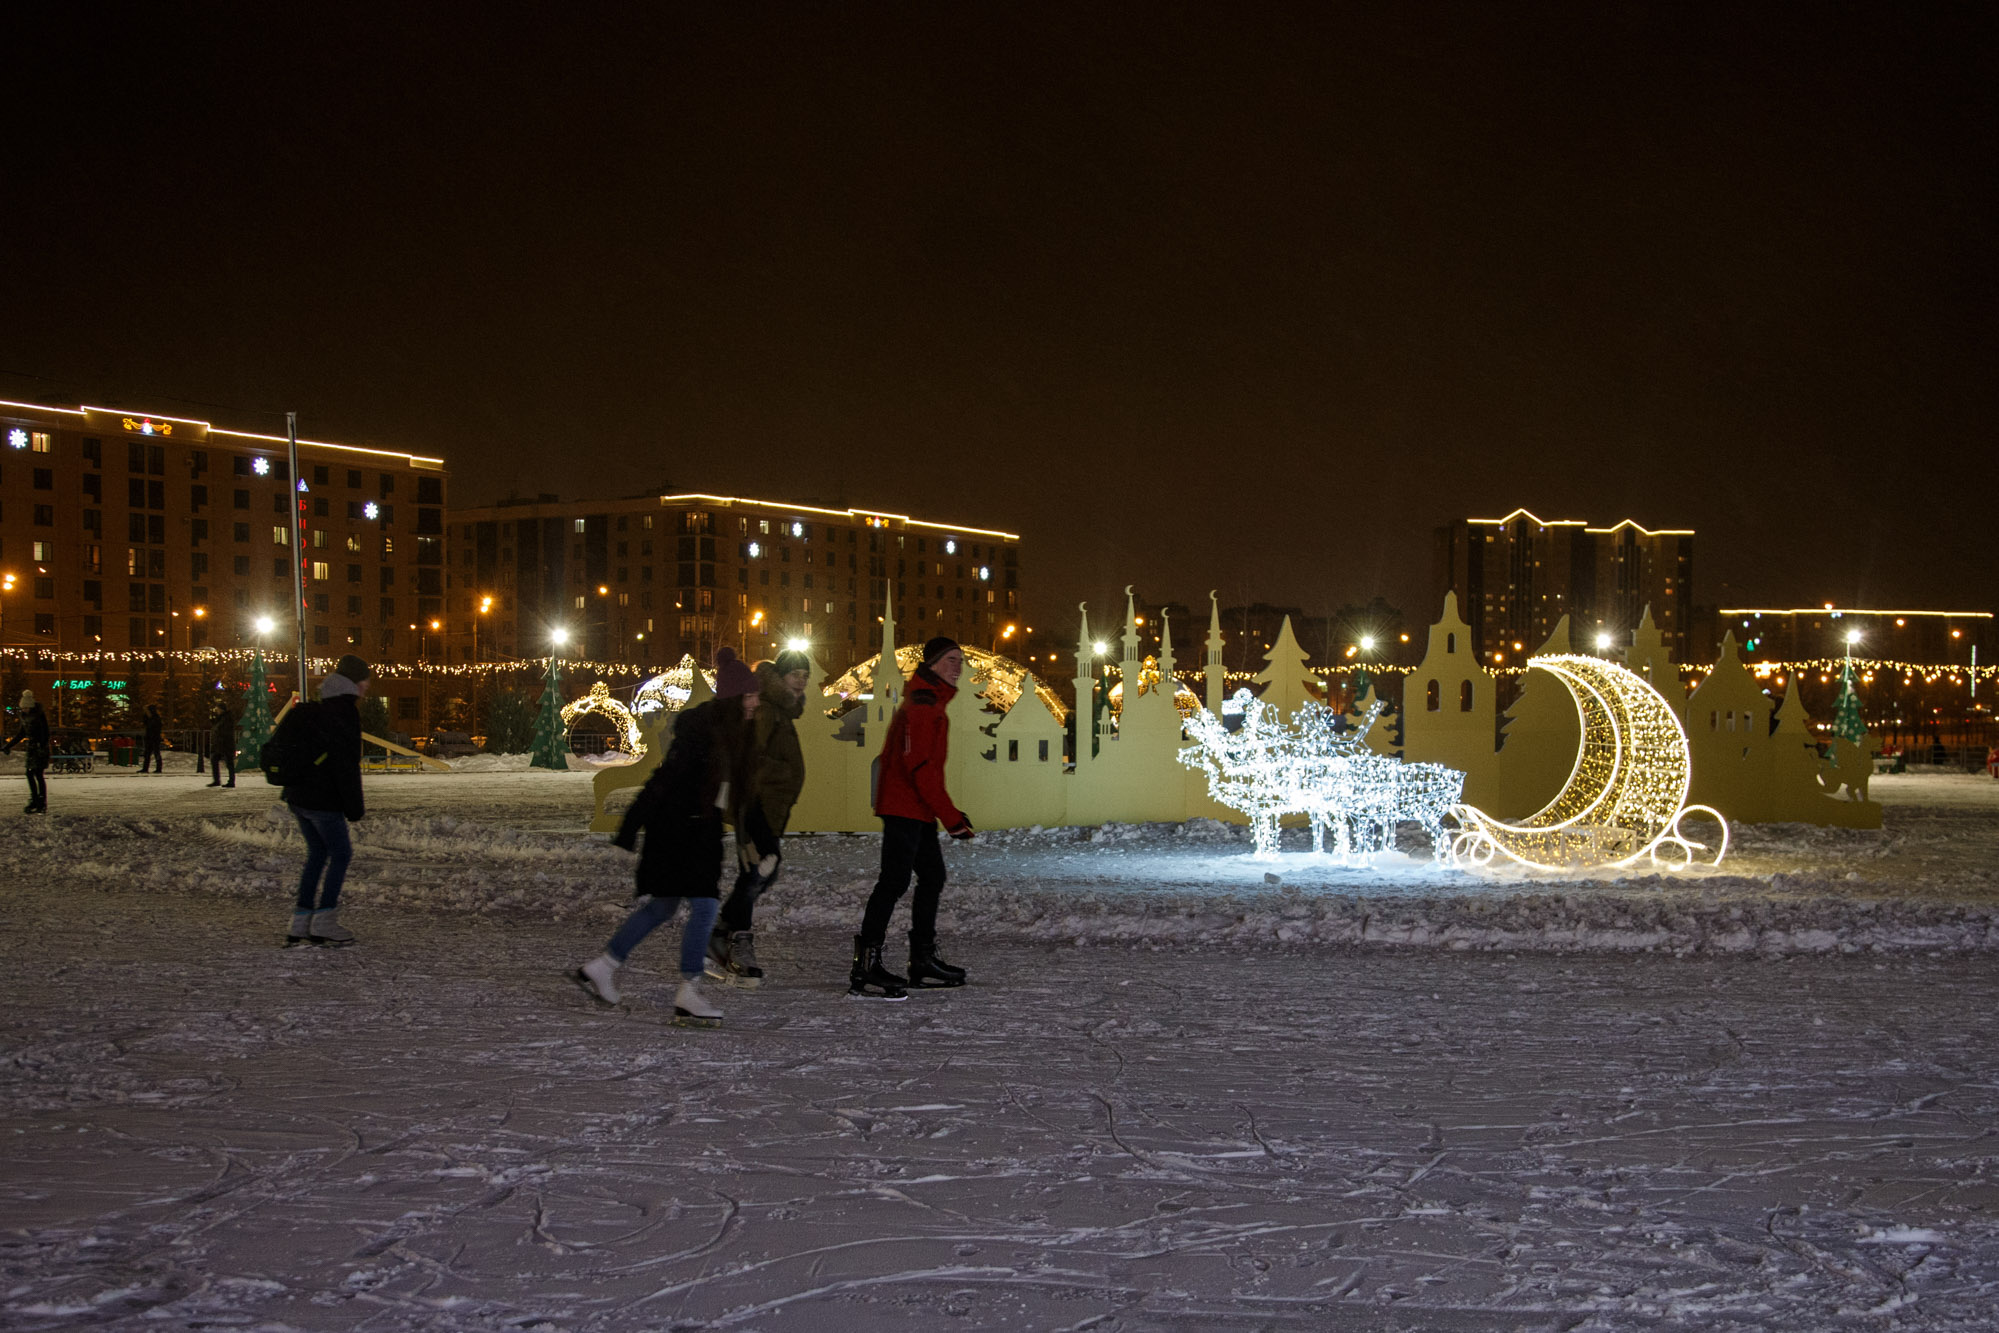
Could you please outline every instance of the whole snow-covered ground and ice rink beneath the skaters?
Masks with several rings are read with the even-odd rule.
[[[992,833],[974,985],[898,1005],[842,995],[876,841],[804,837],[696,1031],[666,937],[566,981],[630,891],[586,773],[370,777],[342,951],[276,947],[262,781],[58,777],[0,1327],[1989,1329],[1999,783],[1875,785],[1687,879]]]

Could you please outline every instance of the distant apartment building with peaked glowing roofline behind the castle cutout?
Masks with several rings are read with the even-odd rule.
[[[1591,528],[1527,510],[1437,528],[1435,602],[1457,594],[1487,664],[1531,654],[1563,616],[1583,636],[1627,634],[1645,608],[1675,658],[1685,660],[1693,616],[1693,530],[1631,520]]]

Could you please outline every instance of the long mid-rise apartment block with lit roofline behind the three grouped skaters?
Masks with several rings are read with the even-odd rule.
[[[1019,538],[880,510],[636,496],[454,510],[444,636],[454,662],[572,656],[668,667],[730,644],[810,640],[840,669],[898,630],[992,648],[1019,618]]]

